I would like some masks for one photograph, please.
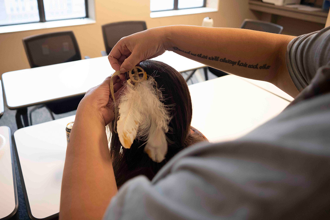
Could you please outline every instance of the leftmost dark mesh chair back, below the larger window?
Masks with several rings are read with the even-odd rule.
[[[81,60],[72,31],[26,37],[23,44],[31,68]]]

